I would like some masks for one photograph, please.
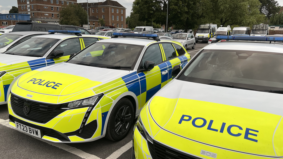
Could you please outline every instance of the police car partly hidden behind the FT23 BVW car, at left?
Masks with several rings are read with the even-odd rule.
[[[79,52],[95,41],[108,39],[105,36],[81,35],[80,31],[50,30],[49,32],[53,34],[34,36],[0,54],[0,105],[7,103],[11,84],[19,75],[67,61],[70,54]],[[76,35],[54,34],[55,32]]]

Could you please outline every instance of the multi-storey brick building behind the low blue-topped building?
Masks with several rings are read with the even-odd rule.
[[[21,14],[30,14],[30,20],[41,22],[59,22],[62,6],[77,5],[77,0],[17,0]]]

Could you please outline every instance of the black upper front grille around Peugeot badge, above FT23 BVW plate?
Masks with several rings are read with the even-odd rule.
[[[30,112],[25,114],[23,105],[24,103],[30,104]],[[63,113],[66,110],[60,109],[61,104],[47,104],[40,103],[26,98],[16,96],[11,93],[11,107],[15,114],[25,119],[37,122],[47,123],[57,115]]]

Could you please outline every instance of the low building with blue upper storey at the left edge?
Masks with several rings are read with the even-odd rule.
[[[30,16],[27,14],[0,14],[0,26],[2,27],[28,20],[30,20]]]

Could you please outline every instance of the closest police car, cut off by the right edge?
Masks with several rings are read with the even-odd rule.
[[[213,43],[173,67],[141,110],[133,158],[283,158],[283,38],[217,39],[249,41]]]

